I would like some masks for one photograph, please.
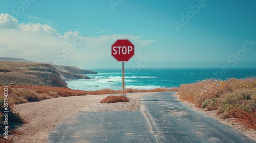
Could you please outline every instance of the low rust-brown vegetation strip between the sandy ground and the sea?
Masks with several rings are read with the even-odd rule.
[[[0,88],[0,92],[3,92],[3,88]],[[158,92],[158,91],[177,91],[177,88],[165,89],[125,89],[126,93],[131,92]],[[56,98],[56,97],[68,97],[68,96],[84,96],[95,94],[115,94],[122,93],[122,90],[113,89],[101,89],[96,91],[83,91],[73,90],[65,87],[48,87],[48,86],[35,86],[35,85],[12,85],[8,88],[9,102],[13,104],[21,104],[26,102],[37,102],[44,99]]]

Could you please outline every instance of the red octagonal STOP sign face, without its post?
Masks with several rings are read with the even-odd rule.
[[[111,55],[117,61],[129,61],[135,55],[134,47],[129,39],[117,39],[111,46]]]

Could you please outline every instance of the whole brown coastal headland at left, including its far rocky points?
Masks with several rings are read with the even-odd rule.
[[[0,58],[0,85],[13,83],[15,85],[68,87],[65,81],[91,79],[85,76],[88,74],[97,73],[75,66],[37,63],[22,58]]]

